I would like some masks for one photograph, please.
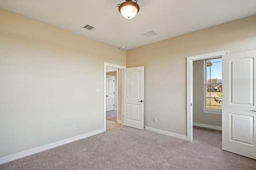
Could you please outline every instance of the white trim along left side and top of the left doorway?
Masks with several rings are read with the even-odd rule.
[[[113,68],[119,68],[119,69],[124,69],[126,68],[126,66],[122,66],[122,65],[118,65],[118,64],[112,64],[112,63],[106,63],[104,62],[104,96],[103,96],[103,101],[104,101],[104,119],[103,119],[103,128],[104,128],[104,132],[106,131],[106,67],[109,66],[109,67],[113,67]],[[118,102],[118,101],[117,101]],[[117,112],[119,110],[119,107],[117,107]],[[122,115],[122,112],[121,112],[121,115]]]

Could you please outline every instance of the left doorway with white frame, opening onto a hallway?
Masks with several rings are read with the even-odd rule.
[[[111,129],[115,126],[122,125],[122,72],[126,66],[112,64],[112,63],[104,63],[104,131]],[[107,84],[107,77],[109,78],[110,84],[112,82],[112,92],[115,93],[113,96],[109,96],[107,93],[107,87],[109,84]],[[112,79],[111,77],[114,77]],[[114,87],[114,89],[113,89]],[[109,89],[109,87],[108,87]],[[110,97],[110,98],[109,98]],[[114,100],[111,98],[113,97]],[[108,101],[107,101],[108,100]],[[111,103],[112,102],[112,103]],[[111,106],[112,107],[109,107]],[[108,106],[108,109],[107,109]],[[116,113],[116,121],[112,121],[107,118],[106,112],[112,111],[114,114]],[[113,115],[113,114],[112,114]],[[107,128],[108,125],[108,128]]]

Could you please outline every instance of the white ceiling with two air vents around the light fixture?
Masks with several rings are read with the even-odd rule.
[[[138,14],[125,19],[122,2],[0,0],[0,8],[126,50],[256,14],[256,0],[138,0]],[[86,23],[97,29],[82,28]],[[141,35],[150,30],[159,35]]]

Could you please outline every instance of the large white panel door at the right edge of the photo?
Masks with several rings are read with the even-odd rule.
[[[256,50],[222,57],[222,149],[256,159]]]

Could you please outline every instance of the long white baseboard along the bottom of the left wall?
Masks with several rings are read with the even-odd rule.
[[[11,155],[8,155],[8,156],[4,156],[4,157],[0,158],[0,164],[10,162],[12,160],[16,160],[18,158],[22,158],[22,157],[25,157],[25,156],[28,156],[28,155],[31,155],[31,154],[35,154],[35,153],[38,153],[38,152],[42,152],[44,150],[52,149],[52,148],[55,148],[55,147],[58,147],[60,145],[64,145],[64,144],[67,144],[67,143],[70,143],[70,142],[78,141],[80,139],[84,139],[86,137],[90,137],[90,136],[93,136],[93,135],[96,135],[96,134],[102,133],[102,132],[104,132],[104,129],[99,129],[99,130],[96,130],[96,131],[92,131],[92,132],[85,133],[85,134],[82,134],[82,135],[78,135],[78,136],[75,136],[75,137],[70,137],[68,139],[64,139],[64,140],[57,141],[57,142],[54,142],[54,143],[50,143],[50,144],[47,144],[47,145],[43,145],[41,147],[36,147],[36,148],[33,148],[33,149],[24,150],[24,151],[16,153],[16,154],[11,154]]]

